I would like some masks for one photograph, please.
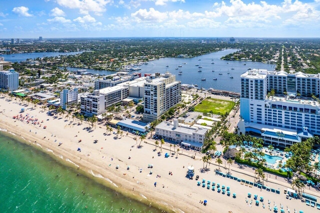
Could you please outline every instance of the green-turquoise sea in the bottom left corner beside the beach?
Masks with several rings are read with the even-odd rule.
[[[0,162],[2,213],[161,212],[77,174],[3,132]]]

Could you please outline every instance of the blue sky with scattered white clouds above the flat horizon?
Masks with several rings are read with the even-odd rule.
[[[320,0],[1,0],[0,39],[319,37]]]

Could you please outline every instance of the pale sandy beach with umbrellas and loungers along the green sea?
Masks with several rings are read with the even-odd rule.
[[[25,109],[23,113],[19,113],[21,108]],[[18,119],[12,118],[17,115]],[[137,198],[144,203],[160,206],[165,211],[256,213],[273,212],[275,205],[277,205],[278,212],[281,206],[285,213],[294,213],[294,209],[297,212],[302,210],[304,213],[317,211],[316,207],[306,206],[300,200],[286,199],[283,189],[291,187],[283,178],[275,179],[274,175],[267,175],[268,180],[264,181],[264,184],[280,191],[280,194],[275,194],[216,175],[215,170],[218,169],[218,166],[214,165],[215,159],[212,159],[211,165],[208,165],[209,170],[201,173],[202,154],[183,150],[182,154],[180,151],[179,155],[164,158],[164,153],[169,153],[168,143],[162,145],[162,153],[158,156],[160,148],[157,147],[155,150],[154,140],[146,139],[146,143],[142,142],[142,148],[138,149],[137,144],[140,141],[133,139],[136,136],[130,133],[126,135],[124,132],[122,137],[119,135],[119,138],[116,139],[115,134],[106,135],[103,124],[96,124],[89,130],[88,123],[82,122],[81,124],[76,119],[62,118],[59,115],[56,115],[56,118],[48,116],[47,110],[44,111],[39,106],[37,108],[34,108],[33,104],[24,106],[17,100],[9,101],[3,97],[0,98],[0,119],[0,128],[3,131],[25,139],[25,143],[41,148],[44,152],[57,159],[62,159],[69,166],[78,168],[80,172],[88,176],[99,178],[105,185],[125,195]],[[27,119],[30,119],[29,123],[26,122]],[[37,119],[39,123],[32,124],[32,119],[33,122],[34,119]],[[43,126],[46,128],[44,129]],[[173,152],[173,147],[171,151]],[[195,159],[191,158],[193,155]],[[152,168],[149,168],[149,165],[152,165]],[[211,187],[207,189],[206,184],[204,188],[202,184],[197,186],[195,178],[187,179],[185,177],[187,167],[191,165],[194,167],[195,175],[199,175],[198,181],[205,179],[206,182],[211,181],[229,187],[230,196],[227,196],[226,193],[218,193],[216,188],[214,191],[211,190]],[[226,168],[224,168],[224,163],[220,165],[220,172],[227,173],[228,165]],[[230,166],[230,174],[254,182],[253,168],[240,169],[233,163]],[[233,193],[236,194],[235,198],[232,196]],[[248,193],[252,194],[251,198],[247,198]],[[309,190],[306,187],[305,193],[317,196],[317,198],[319,196],[319,193],[313,188]],[[263,197],[263,202],[259,202],[259,206],[255,206],[253,195],[257,195],[258,198]],[[207,201],[206,206],[200,202],[204,200]],[[269,206],[272,211],[269,210]]]

